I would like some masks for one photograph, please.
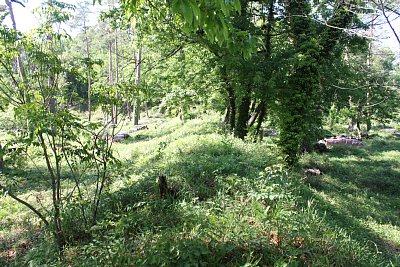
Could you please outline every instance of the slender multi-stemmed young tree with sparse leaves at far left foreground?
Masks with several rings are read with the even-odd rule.
[[[44,3],[40,9],[44,24],[30,35],[0,27],[5,37],[0,40],[3,74],[0,88],[14,106],[15,119],[22,129],[12,142],[19,146],[18,151],[27,151],[28,147],[41,150],[47,168],[45,179],[50,184],[51,205],[48,210],[38,209],[5,185],[1,184],[0,189],[31,209],[49,227],[60,251],[74,234],[97,223],[102,194],[111,178],[109,164],[116,163],[111,151],[113,135],[104,140],[103,129],[96,131],[100,125],[82,124],[68,110],[61,94],[64,91],[62,77],[67,69],[60,54],[66,36],[54,31],[53,26],[69,18],[66,11],[70,8],[57,1]],[[15,55],[23,58],[25,77],[15,75],[12,67]],[[29,90],[21,95],[11,86]],[[74,180],[72,188],[65,181],[68,173]],[[78,214],[68,214],[75,203],[78,203]],[[75,223],[70,232],[65,227],[68,216]]]

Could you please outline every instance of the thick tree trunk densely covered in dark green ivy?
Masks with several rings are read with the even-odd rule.
[[[310,41],[314,22],[308,0],[287,1],[287,27],[296,55],[307,55],[306,61],[295,61],[287,86],[280,92],[280,135],[278,144],[287,166],[298,163],[301,153],[315,141],[321,128],[319,112],[318,46]],[[298,17],[298,14],[302,14]],[[293,15],[293,16],[292,16]],[[303,16],[304,15],[304,16]]]

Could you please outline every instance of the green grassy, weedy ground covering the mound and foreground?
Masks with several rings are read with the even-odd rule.
[[[151,119],[148,130],[115,144],[122,165],[102,218],[62,259],[28,210],[0,198],[0,265],[400,264],[398,138],[382,134],[364,147],[306,155],[302,167],[324,175],[305,176],[281,168],[273,139],[242,142],[224,134],[219,119]],[[23,182],[19,195],[45,205],[37,164],[8,175]],[[166,199],[160,174],[174,191]]]

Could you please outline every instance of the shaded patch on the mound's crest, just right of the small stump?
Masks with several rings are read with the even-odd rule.
[[[185,191],[200,200],[222,190],[224,177],[257,177],[264,168],[265,159],[249,155],[229,142],[200,143],[165,164],[168,173],[183,183]]]

